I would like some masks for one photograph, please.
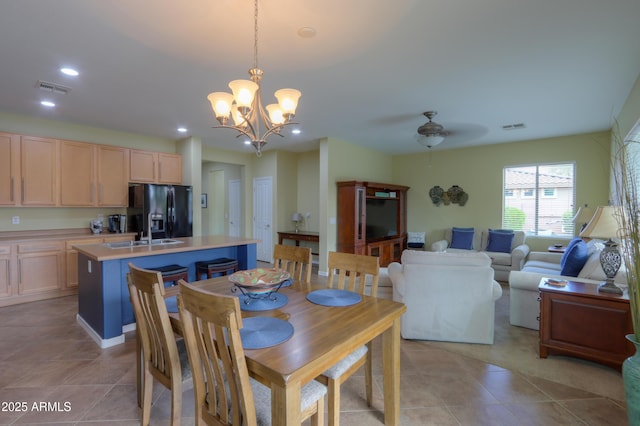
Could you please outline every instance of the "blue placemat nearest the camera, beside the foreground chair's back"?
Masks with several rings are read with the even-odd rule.
[[[279,345],[293,336],[293,325],[273,317],[242,319],[240,338],[244,349],[262,349]]]

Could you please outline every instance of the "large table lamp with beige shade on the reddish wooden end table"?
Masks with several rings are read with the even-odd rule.
[[[620,214],[620,207],[600,206],[587,226],[580,232],[581,237],[607,239],[600,253],[600,265],[607,276],[606,281],[598,286],[598,291],[603,293],[622,294],[622,289],[613,282],[622,264],[618,244],[612,239],[620,236],[620,225],[617,219]]]

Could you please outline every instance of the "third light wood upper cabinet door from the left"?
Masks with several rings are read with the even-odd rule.
[[[60,205],[96,205],[96,148],[84,142],[60,142]]]

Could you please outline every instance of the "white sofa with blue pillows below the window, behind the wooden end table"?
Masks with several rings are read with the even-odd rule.
[[[509,275],[509,322],[519,327],[540,329],[540,301],[538,285],[542,278],[578,280],[581,282],[602,283],[606,279],[600,266],[600,252],[603,242],[592,240],[587,243],[588,259],[577,277],[561,275],[560,261],[562,253],[532,251],[522,270]],[[624,266],[615,277],[616,285],[626,287],[627,278]]]

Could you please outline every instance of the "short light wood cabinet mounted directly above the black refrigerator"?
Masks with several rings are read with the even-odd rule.
[[[131,182],[182,183],[182,156],[153,151],[130,151]]]

